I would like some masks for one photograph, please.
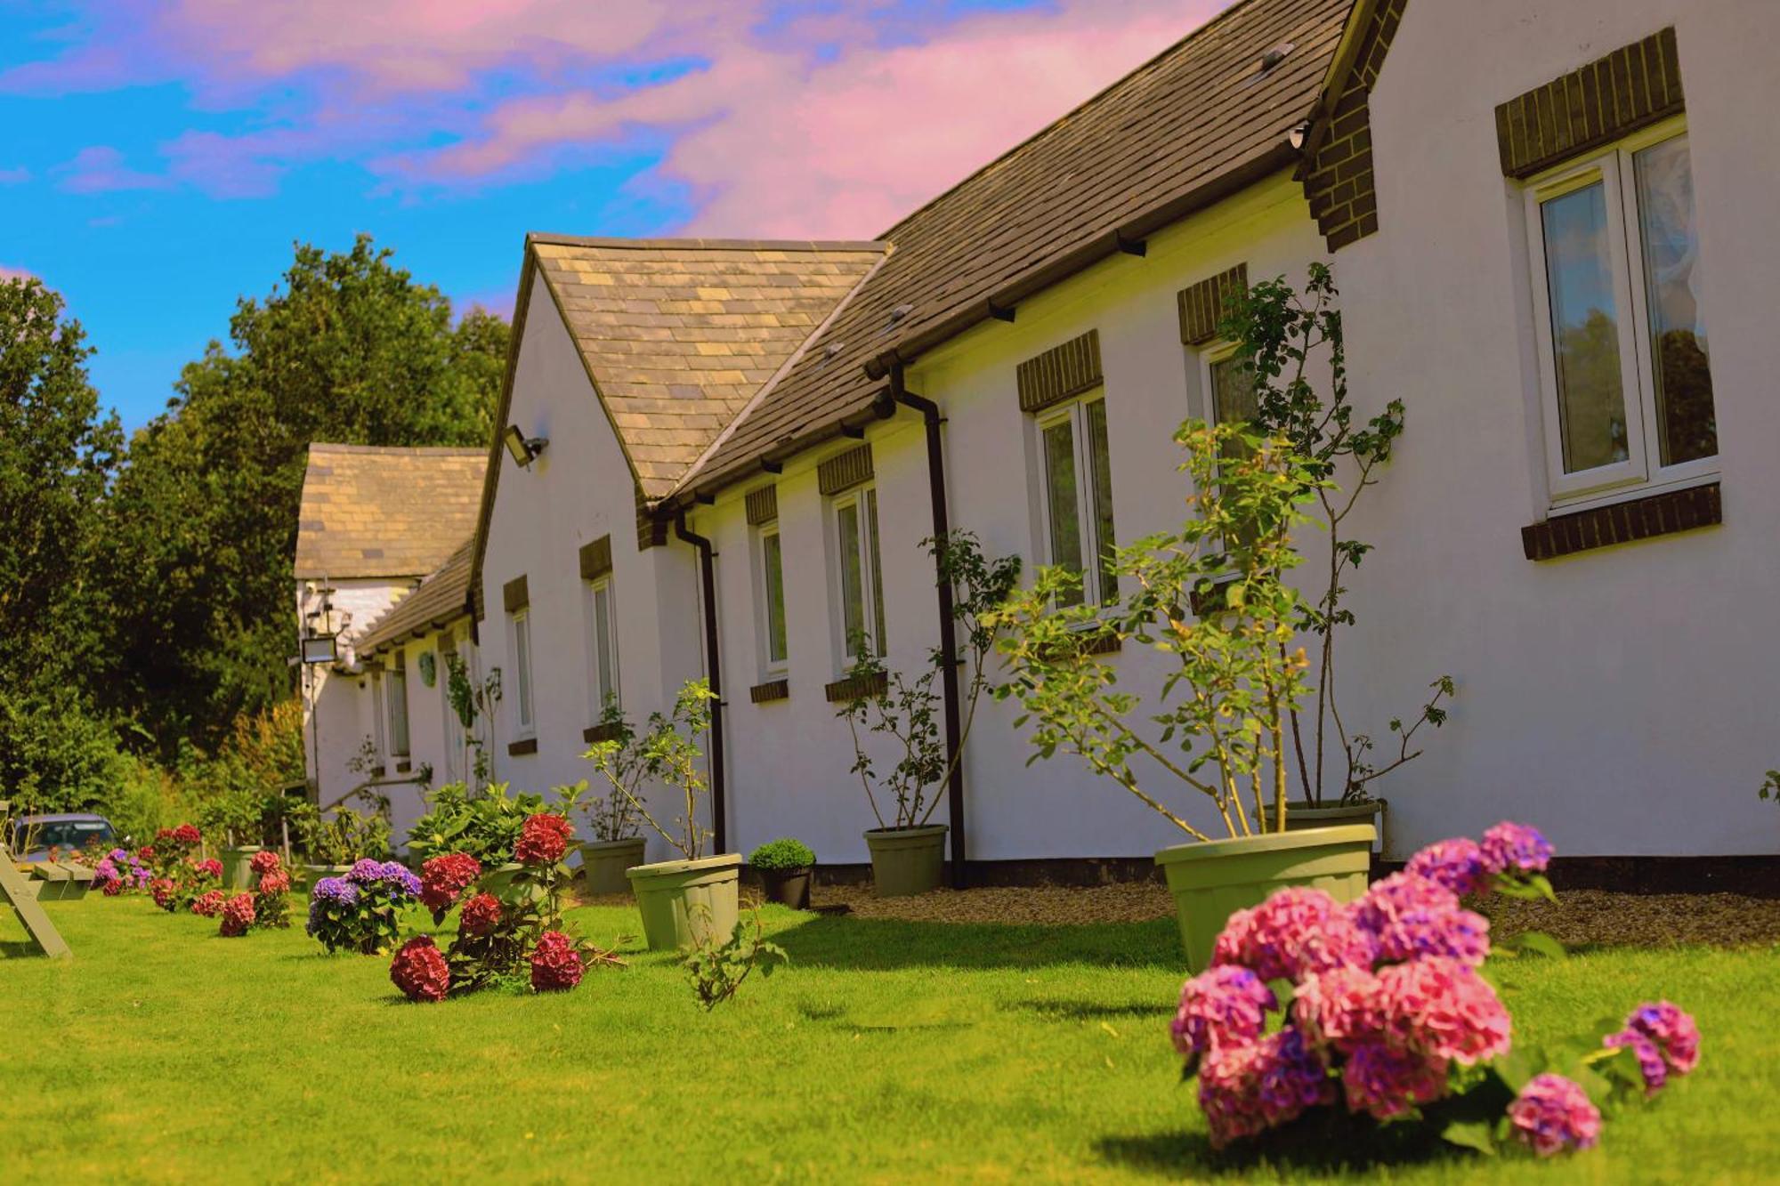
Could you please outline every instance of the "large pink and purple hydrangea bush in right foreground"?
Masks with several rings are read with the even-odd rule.
[[[1501,823],[1481,842],[1428,846],[1360,901],[1289,887],[1230,915],[1171,1024],[1212,1145],[1344,1108],[1433,1124],[1472,1149],[1517,1141],[1550,1156],[1591,1147],[1604,1109],[1691,1072],[1700,1031],[1668,1001],[1558,1058],[1513,1044],[1508,1008],[1479,969],[1563,949],[1536,933],[1492,946],[1490,921],[1463,899],[1552,898],[1550,857],[1534,828]]]

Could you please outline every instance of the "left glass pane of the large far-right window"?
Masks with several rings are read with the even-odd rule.
[[[1566,474],[1625,461],[1620,315],[1600,182],[1540,207]]]

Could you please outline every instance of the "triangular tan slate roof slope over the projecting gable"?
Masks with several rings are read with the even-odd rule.
[[[881,242],[529,244],[650,499],[673,488],[885,256]]]

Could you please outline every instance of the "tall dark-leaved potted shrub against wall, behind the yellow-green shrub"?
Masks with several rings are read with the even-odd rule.
[[[1431,696],[1410,718],[1394,718],[1396,741],[1383,762],[1372,760],[1372,737],[1349,732],[1337,703],[1335,636],[1353,625],[1346,602],[1351,570],[1372,545],[1347,532],[1360,495],[1378,481],[1403,435],[1403,402],[1390,401],[1371,420],[1355,420],[1347,399],[1340,312],[1333,308],[1335,281],[1328,265],[1312,264],[1303,296],[1283,280],[1260,281],[1232,303],[1221,333],[1237,342],[1237,360],[1253,379],[1253,427],[1283,436],[1317,479],[1308,500],[1310,518],[1328,538],[1328,568],[1317,573],[1315,602],[1299,607],[1298,629],[1312,639],[1315,686],[1305,705],[1292,705],[1290,768],[1298,798],[1287,803],[1287,830],[1347,823],[1378,823],[1387,803],[1374,794],[1376,780],[1420,757],[1412,748],[1422,725],[1445,721],[1444,700],[1456,689],[1451,675],[1429,684]],[[1324,397],[1307,378],[1308,360],[1328,367]],[[1349,477],[1346,491],[1333,484],[1337,468]]]

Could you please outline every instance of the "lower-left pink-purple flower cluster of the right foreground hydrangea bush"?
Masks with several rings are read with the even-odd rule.
[[[1296,1029],[1214,1051],[1200,1070],[1200,1108],[1212,1147],[1294,1120],[1335,1099],[1321,1054]]]

